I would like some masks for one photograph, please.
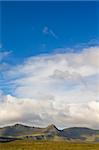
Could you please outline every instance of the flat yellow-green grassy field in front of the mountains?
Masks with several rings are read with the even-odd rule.
[[[99,143],[65,141],[14,141],[0,143],[0,150],[99,150]]]

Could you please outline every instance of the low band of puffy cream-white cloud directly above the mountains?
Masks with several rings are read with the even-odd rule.
[[[37,101],[6,96],[4,102],[0,104],[0,125],[20,122],[32,126],[47,126],[54,123],[60,128],[70,126],[98,128],[99,102],[63,105],[60,101],[59,105],[60,107],[57,107],[52,98]]]

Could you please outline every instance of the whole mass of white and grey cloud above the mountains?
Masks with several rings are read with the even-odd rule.
[[[0,125],[24,122],[97,128],[98,68],[99,47],[33,56],[10,67],[3,73],[10,95],[0,95]]]

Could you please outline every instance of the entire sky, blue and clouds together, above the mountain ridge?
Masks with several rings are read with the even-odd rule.
[[[99,128],[99,2],[0,8],[0,126]]]

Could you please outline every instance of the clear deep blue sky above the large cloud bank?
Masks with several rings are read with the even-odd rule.
[[[4,50],[24,58],[97,40],[96,2],[2,2]],[[43,33],[47,27],[51,33]],[[48,31],[50,32],[50,31]]]

